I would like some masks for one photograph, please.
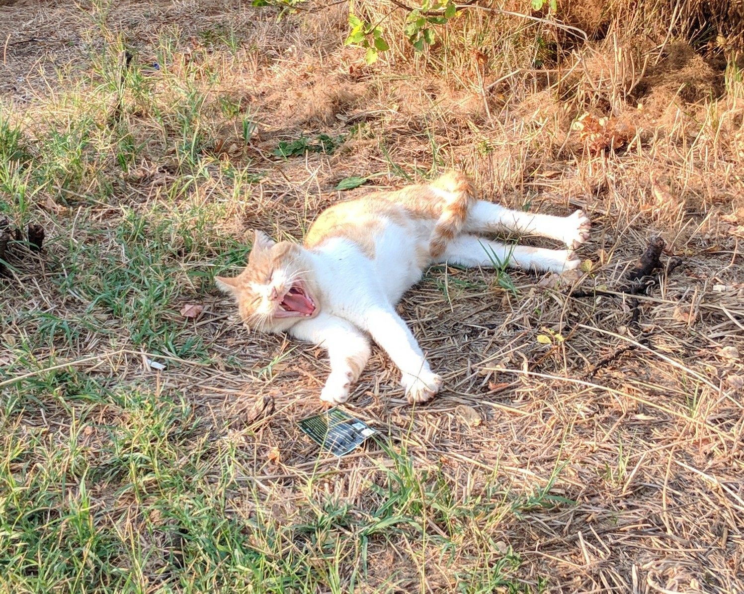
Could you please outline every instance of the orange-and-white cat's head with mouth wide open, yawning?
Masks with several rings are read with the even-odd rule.
[[[276,243],[262,231],[255,239],[248,265],[234,277],[217,276],[217,287],[237,301],[240,317],[251,328],[281,332],[318,313],[310,270],[296,243]]]

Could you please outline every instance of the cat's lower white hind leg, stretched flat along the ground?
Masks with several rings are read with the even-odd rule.
[[[550,272],[573,270],[581,264],[570,249],[517,246],[469,234],[458,235],[449,242],[438,261],[468,267],[510,266]]]

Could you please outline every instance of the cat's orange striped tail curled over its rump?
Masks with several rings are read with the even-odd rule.
[[[442,211],[429,238],[429,252],[432,258],[439,258],[462,231],[470,207],[475,203],[475,185],[460,171],[449,171],[431,183],[443,197]],[[437,194],[439,194],[437,192]]]

